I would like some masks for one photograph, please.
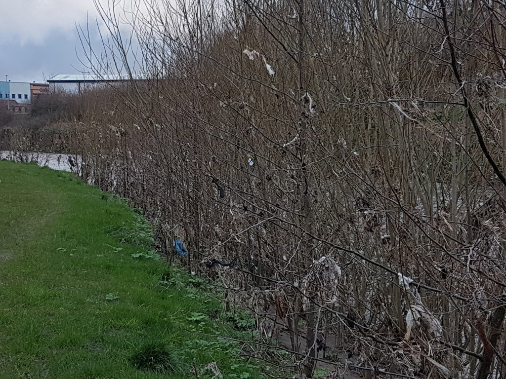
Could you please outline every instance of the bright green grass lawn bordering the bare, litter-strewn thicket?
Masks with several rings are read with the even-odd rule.
[[[0,378],[263,377],[205,282],[153,259],[149,225],[69,173],[0,162]],[[155,257],[156,258],[156,257]],[[221,317],[221,318],[220,318]],[[238,319],[244,326],[247,317]],[[165,371],[156,373],[153,370]]]

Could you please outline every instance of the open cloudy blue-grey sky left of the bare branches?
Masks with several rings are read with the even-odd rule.
[[[96,15],[93,0],[0,0],[0,80],[82,71],[75,24],[85,26],[87,17],[94,23]]]

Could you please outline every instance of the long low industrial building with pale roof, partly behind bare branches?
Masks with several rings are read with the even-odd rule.
[[[134,76],[134,80],[143,80]],[[90,89],[103,88],[108,85],[117,85],[130,81],[126,74],[95,75],[95,74],[59,74],[48,79],[51,92],[65,91],[81,93]]]

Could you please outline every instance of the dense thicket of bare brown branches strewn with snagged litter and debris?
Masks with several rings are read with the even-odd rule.
[[[85,109],[83,175],[286,328],[307,377],[323,340],[335,377],[504,377],[504,4],[138,6],[99,6],[93,70],[149,81]]]

